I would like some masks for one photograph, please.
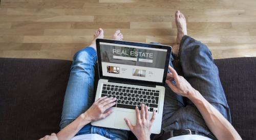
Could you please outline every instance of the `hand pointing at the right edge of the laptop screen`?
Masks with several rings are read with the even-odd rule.
[[[168,69],[171,73],[167,74],[165,83],[173,92],[181,96],[189,97],[191,93],[196,91],[183,76],[177,74],[174,68],[169,66]],[[172,83],[173,80],[176,83],[175,85]]]

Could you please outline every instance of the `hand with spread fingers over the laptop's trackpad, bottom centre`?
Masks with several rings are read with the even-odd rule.
[[[144,104],[141,105],[141,116],[140,116],[138,106],[136,106],[135,110],[136,110],[136,118],[137,118],[136,125],[133,126],[128,119],[124,118],[125,123],[130,128],[130,130],[134,133],[134,135],[138,138],[138,140],[150,139],[151,126],[155,120],[156,111],[154,110],[152,118],[149,119],[147,106],[144,106]]]

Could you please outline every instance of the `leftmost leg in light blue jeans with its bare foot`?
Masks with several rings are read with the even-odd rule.
[[[92,44],[95,44],[97,38],[103,38],[103,30],[99,29],[95,32]],[[91,45],[74,55],[63,102],[60,129],[74,121],[94,102],[94,68],[97,61],[95,48],[95,45]],[[84,128],[88,128],[89,131],[90,125]]]

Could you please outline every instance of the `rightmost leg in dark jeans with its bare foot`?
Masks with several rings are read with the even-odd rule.
[[[219,70],[214,64],[210,50],[206,45],[184,34],[187,33],[186,19],[179,11],[176,12],[176,19],[178,34],[180,34],[177,40],[181,40],[179,57],[184,77],[207,101],[220,109],[219,111],[228,121],[231,121]],[[193,103],[188,100],[187,104]]]

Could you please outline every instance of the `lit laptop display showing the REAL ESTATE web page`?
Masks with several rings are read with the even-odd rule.
[[[102,75],[162,82],[167,49],[99,42]]]

